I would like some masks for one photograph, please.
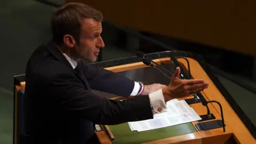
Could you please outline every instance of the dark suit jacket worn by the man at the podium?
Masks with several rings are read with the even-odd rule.
[[[86,143],[94,124],[115,125],[153,118],[148,96],[108,100],[90,89],[129,96],[134,81],[86,65],[81,81],[53,42],[39,46],[26,68],[27,143]]]

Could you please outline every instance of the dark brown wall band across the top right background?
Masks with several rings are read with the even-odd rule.
[[[66,0],[102,11],[119,26],[256,55],[256,1]]]

